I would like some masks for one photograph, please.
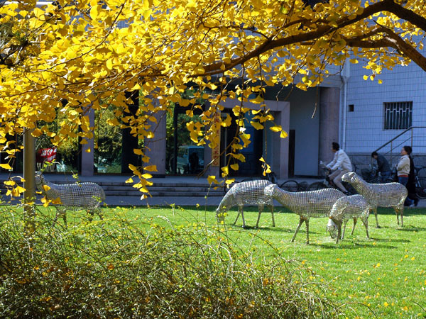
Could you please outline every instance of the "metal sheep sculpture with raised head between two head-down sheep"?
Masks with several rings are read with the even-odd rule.
[[[299,225],[297,225],[295,235],[292,242],[295,240],[297,232],[303,222],[306,224],[306,243],[309,244],[309,219],[317,217],[327,217],[337,199],[344,197],[342,191],[338,189],[319,189],[317,191],[299,191],[291,192],[280,189],[273,184],[267,186],[266,193],[270,194],[273,199],[280,202],[281,205],[290,209],[300,216]]]

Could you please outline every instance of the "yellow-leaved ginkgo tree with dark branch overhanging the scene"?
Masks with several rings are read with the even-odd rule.
[[[411,61],[426,71],[425,17],[420,0],[2,1],[2,150],[12,158],[15,145],[7,136],[26,129],[34,137],[48,135],[54,145],[75,135],[76,127],[83,140],[92,138],[89,110],[111,104],[110,125],[152,138],[155,113],[169,111],[172,103],[199,108],[200,101],[206,102],[200,122],[187,128],[194,142],[214,147],[217,126],[231,125],[229,116],[214,121],[226,99],[239,101],[233,109],[237,125],[244,126],[244,115],[252,112],[251,125],[263,129],[273,121],[263,103],[267,86],[318,86],[330,65],[359,59],[368,61],[371,79]],[[126,92],[136,90],[140,105],[129,116]],[[247,101],[260,111],[246,107]],[[58,132],[37,125],[55,121],[58,111],[66,118]],[[279,125],[270,126],[285,138]],[[225,152],[244,160],[238,151],[249,139],[237,130]],[[226,177],[228,166],[223,172]]]

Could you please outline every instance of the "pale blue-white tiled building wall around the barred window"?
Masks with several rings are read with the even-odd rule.
[[[403,130],[384,130],[385,102],[413,101],[413,126],[426,126],[426,72],[414,63],[407,67],[385,70],[374,82],[364,80],[369,71],[364,64],[350,66],[346,106],[346,152],[352,155],[371,153]],[[378,84],[382,79],[383,84]],[[354,111],[348,111],[353,105]],[[410,134],[404,135],[393,145],[411,145]],[[390,151],[390,147],[383,152]],[[426,130],[413,130],[413,154],[426,155]]]

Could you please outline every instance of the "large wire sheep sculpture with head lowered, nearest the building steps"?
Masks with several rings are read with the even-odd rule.
[[[265,194],[266,186],[272,185],[271,181],[266,179],[260,179],[256,181],[242,181],[241,183],[234,184],[234,186],[229,189],[222,201],[216,210],[216,216],[219,222],[224,220],[224,213],[229,211],[233,206],[238,206],[238,214],[234,221],[238,220],[241,213],[243,218],[243,228],[246,227],[246,221],[244,220],[244,205],[257,205],[259,209],[258,220],[256,223],[256,228],[258,227],[259,220],[261,219],[261,213],[263,207],[268,205],[271,208],[272,213],[272,225],[275,227],[275,220],[273,218],[273,199],[271,196]]]

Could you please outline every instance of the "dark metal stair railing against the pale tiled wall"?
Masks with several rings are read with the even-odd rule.
[[[381,147],[378,147],[375,152],[379,152],[382,150],[382,155],[385,157],[388,157],[389,164],[391,164],[391,167],[393,167],[393,159],[394,157],[399,158],[400,154],[400,148],[402,148],[404,145],[410,145],[413,147],[425,147],[426,145],[421,145],[417,141],[420,140],[420,142],[426,143],[426,134],[423,132],[420,135],[415,134],[415,130],[418,131],[418,129],[426,129],[426,126],[412,126],[406,130],[404,130],[402,133],[395,136],[395,138],[392,138],[385,144],[381,145]],[[418,139],[418,140],[417,140]],[[390,149],[387,152],[383,152],[383,149],[386,149],[386,147],[390,147]],[[398,149],[397,152],[393,152],[393,150]],[[418,152],[418,151],[417,151]]]

